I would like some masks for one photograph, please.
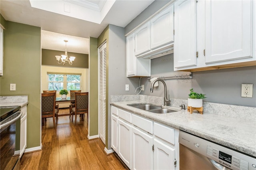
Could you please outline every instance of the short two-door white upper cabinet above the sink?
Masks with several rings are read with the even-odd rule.
[[[173,52],[174,5],[148,19],[134,32],[134,55],[156,58]]]

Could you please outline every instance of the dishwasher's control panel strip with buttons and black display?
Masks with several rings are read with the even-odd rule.
[[[179,143],[232,170],[256,170],[256,158],[180,130]]]

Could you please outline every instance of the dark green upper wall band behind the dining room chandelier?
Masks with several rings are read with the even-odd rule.
[[[65,65],[58,64],[55,55],[62,55],[62,54],[64,55],[65,51],[42,49],[42,65],[52,65],[52,66],[58,66],[58,67],[61,66],[61,67],[88,68],[88,54],[68,52],[68,57],[70,56],[76,57],[72,65],[69,65],[69,63],[65,63]]]

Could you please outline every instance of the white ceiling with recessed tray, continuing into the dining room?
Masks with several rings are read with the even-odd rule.
[[[2,16],[42,29],[42,48],[88,54],[88,38],[125,27],[154,0],[0,0]],[[33,6],[33,7],[32,7]]]

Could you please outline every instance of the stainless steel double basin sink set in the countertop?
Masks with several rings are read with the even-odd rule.
[[[155,105],[150,105],[150,104],[142,104],[142,105],[130,105],[132,107],[138,108],[138,109],[142,109],[144,111],[149,111],[152,113],[171,113],[171,112],[176,112],[170,109],[164,109],[162,107],[159,106],[155,106]]]

